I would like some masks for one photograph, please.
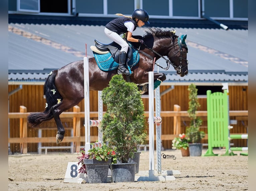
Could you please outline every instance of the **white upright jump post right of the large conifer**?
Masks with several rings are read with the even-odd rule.
[[[149,170],[148,176],[154,176],[154,73],[148,74],[148,101],[149,101]]]

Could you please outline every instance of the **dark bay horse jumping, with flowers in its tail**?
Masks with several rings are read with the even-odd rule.
[[[138,38],[138,36],[136,36]],[[142,37],[139,37],[142,38]],[[148,72],[153,71],[154,60],[165,59],[166,70],[172,65],[180,77],[188,73],[186,35],[178,37],[175,31],[149,28],[143,37],[145,45],[132,43],[139,50],[139,62],[131,68],[133,74],[130,81],[139,85],[148,83]],[[117,74],[117,70],[102,71],[95,58],[89,59],[89,84],[90,90],[101,91],[108,86],[111,78]],[[164,73],[154,73],[154,81],[164,81]],[[32,127],[43,121],[54,118],[57,125],[56,142],[60,143],[65,134],[59,115],[71,107],[77,105],[84,98],[84,61],[70,63],[58,70],[52,71],[44,84],[44,95],[47,107],[43,112],[34,112],[28,116],[28,123]]]

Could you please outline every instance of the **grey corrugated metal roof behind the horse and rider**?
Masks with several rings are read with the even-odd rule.
[[[189,74],[183,78],[172,67],[164,84],[185,83],[233,84],[248,83],[248,30],[216,28],[171,28],[176,34],[187,34]],[[144,35],[146,27],[138,28],[134,35]],[[9,84],[44,83],[47,74],[70,62],[83,59],[85,44],[94,39],[110,43],[103,25],[22,24],[9,23]],[[157,61],[166,66],[165,61]],[[157,67],[155,67],[157,70]]]

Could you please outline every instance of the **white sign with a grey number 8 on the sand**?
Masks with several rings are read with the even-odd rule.
[[[81,168],[81,164],[77,164],[78,162],[68,162],[65,178],[64,178],[64,183],[66,182],[73,182],[77,183],[78,178],[83,178],[84,173],[78,173],[78,170]]]

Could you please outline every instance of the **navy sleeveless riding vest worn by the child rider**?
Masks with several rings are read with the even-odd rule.
[[[127,27],[124,25],[124,22],[126,20],[129,20],[134,24],[133,31],[135,31],[135,29],[137,27],[137,23],[134,20],[132,20],[131,18],[127,18],[127,17],[120,17],[120,18],[113,19],[105,27],[120,35],[122,33],[127,32]]]

